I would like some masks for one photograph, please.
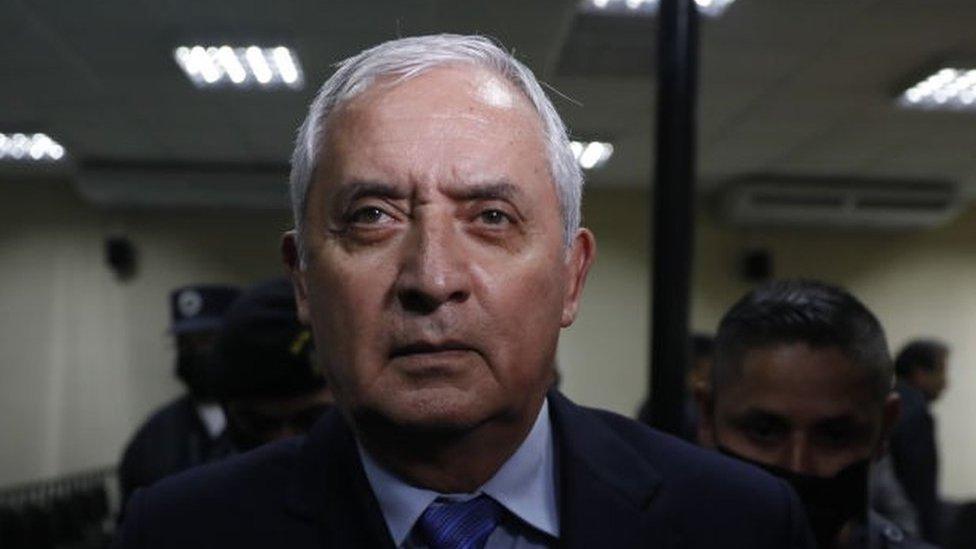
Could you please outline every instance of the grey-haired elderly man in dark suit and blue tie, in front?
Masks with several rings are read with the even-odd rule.
[[[593,260],[531,72],[480,37],[343,62],[293,158],[284,254],[337,411],[138,494],[147,547],[806,547],[786,483],[558,392]]]

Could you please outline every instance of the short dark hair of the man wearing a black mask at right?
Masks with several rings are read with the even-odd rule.
[[[881,323],[853,295],[823,282],[763,284],[729,309],[715,339],[716,390],[741,374],[748,351],[791,343],[836,347],[865,368],[879,400],[892,388],[891,356]]]

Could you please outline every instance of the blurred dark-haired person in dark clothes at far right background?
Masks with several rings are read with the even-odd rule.
[[[934,339],[909,342],[895,359],[902,414],[891,434],[892,465],[918,512],[922,536],[933,542],[941,537],[944,516],[935,419],[929,406],[948,384],[948,359],[948,346]]]

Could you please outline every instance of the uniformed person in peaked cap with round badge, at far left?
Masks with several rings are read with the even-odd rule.
[[[230,451],[227,420],[212,385],[213,351],[224,313],[239,294],[236,287],[216,284],[170,294],[175,372],[186,392],[153,412],[126,445],[118,472],[123,509],[137,488]]]

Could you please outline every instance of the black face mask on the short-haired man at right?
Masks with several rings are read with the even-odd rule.
[[[867,520],[868,469],[871,465],[868,459],[856,461],[832,477],[818,477],[753,461],[723,446],[718,449],[788,482],[800,496],[817,546],[822,549],[836,545],[837,535],[848,522],[864,524]]]

